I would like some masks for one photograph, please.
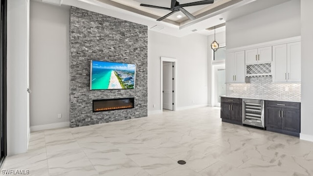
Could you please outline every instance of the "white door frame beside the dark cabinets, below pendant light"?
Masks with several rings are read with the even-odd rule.
[[[213,86],[212,86],[212,93],[213,93],[213,96],[212,96],[212,107],[221,107],[221,103],[218,103],[217,102],[217,94],[218,94],[218,70],[219,69],[224,69],[225,70],[225,64],[219,64],[219,65],[213,65],[212,66],[213,69],[212,69],[212,77],[213,77]]]

